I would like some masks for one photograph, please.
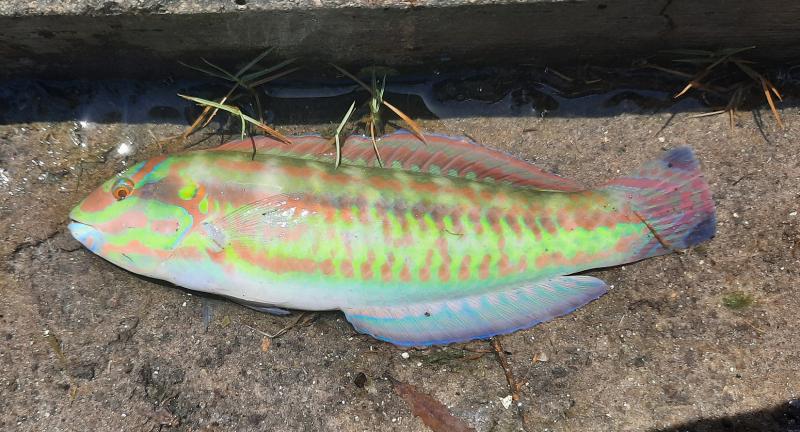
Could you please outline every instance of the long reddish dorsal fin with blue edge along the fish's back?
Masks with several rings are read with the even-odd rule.
[[[427,144],[408,131],[385,135],[378,149],[387,168],[451,175],[484,182],[507,183],[539,190],[574,192],[580,184],[545,172],[506,153],[476,144],[464,137],[426,134]],[[268,137],[256,137],[259,153],[332,162],[336,151],[330,139],[316,135],[291,137],[292,145]],[[253,140],[232,141],[214,150],[253,150]],[[342,163],[377,167],[372,141],[365,136],[350,136],[342,146]]]

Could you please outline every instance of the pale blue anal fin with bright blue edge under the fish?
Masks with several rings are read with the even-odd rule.
[[[591,276],[559,276],[433,302],[344,309],[361,333],[401,346],[485,339],[566,315],[608,290]]]

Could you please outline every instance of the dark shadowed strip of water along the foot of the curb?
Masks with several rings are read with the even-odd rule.
[[[463,76],[395,77],[385,99],[414,118],[605,117],[622,113],[700,112],[694,98],[672,99],[679,83],[564,89],[536,76],[491,72]],[[338,123],[369,93],[351,81],[287,81],[261,87],[264,118],[281,124]],[[177,95],[207,99],[228,87],[210,80],[8,80],[0,81],[0,124],[86,121],[93,123],[189,124],[199,109]],[[253,113],[249,97],[230,102]]]

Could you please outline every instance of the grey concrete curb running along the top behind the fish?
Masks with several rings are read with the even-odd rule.
[[[185,75],[177,60],[242,61],[266,46],[316,64],[428,71],[751,45],[787,60],[800,58],[797,22],[800,3],[785,0],[5,0],[0,76]]]

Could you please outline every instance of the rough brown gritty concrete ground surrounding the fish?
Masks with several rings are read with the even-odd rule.
[[[715,239],[591,271],[609,294],[501,338],[521,383],[509,407],[488,342],[399,349],[338,312],[305,315],[265,342],[297,315],[147,280],[74,241],[69,209],[125,166],[176,150],[160,140],[183,125],[5,122],[0,429],[427,430],[391,376],[478,431],[797,431],[800,110],[784,105],[785,129],[766,109],[733,127],[691,114],[664,129],[671,114],[636,109],[422,122],[589,185],[688,144],[714,192]]]

